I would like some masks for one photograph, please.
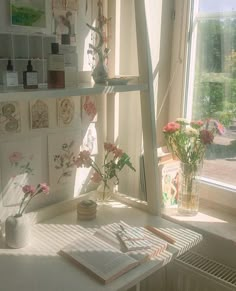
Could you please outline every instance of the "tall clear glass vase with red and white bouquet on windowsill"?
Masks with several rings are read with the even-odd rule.
[[[209,129],[208,123],[178,118],[169,122],[163,133],[167,147],[180,160],[178,175],[178,211],[183,215],[195,215],[199,207],[199,171],[207,147],[213,143],[217,127]]]

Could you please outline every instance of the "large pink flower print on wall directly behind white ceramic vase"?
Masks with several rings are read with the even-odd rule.
[[[9,206],[21,201],[23,185],[41,181],[41,138],[4,142],[0,150],[3,204]]]

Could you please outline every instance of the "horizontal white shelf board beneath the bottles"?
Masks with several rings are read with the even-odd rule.
[[[55,97],[66,97],[66,96],[83,96],[83,95],[94,95],[94,94],[110,94],[118,92],[131,92],[131,91],[146,91],[148,90],[147,84],[127,84],[127,85],[115,85],[106,86],[99,84],[79,84],[75,88],[65,89],[1,89],[0,90],[0,101],[14,101],[14,100],[32,100],[32,99],[43,99],[43,98],[55,98]]]

